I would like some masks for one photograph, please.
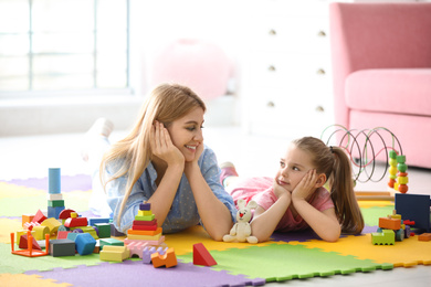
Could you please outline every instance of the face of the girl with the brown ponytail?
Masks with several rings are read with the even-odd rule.
[[[311,169],[315,169],[311,155],[291,144],[280,160],[280,169],[275,179],[280,185],[292,192]]]

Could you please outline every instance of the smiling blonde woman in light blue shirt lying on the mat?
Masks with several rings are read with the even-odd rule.
[[[188,87],[160,85],[146,98],[129,135],[104,153],[101,179],[117,230],[126,232],[139,204],[148,202],[164,233],[198,223],[216,241],[229,233],[236,209],[220,184],[214,152],[203,145],[204,111]],[[107,142],[109,132],[99,134]]]

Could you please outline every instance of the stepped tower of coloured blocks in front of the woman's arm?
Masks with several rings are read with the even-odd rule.
[[[151,204],[141,203],[124,242],[128,244],[134,241],[145,241],[149,245],[160,245],[165,241],[161,232],[161,227],[157,227],[157,220],[151,212]]]

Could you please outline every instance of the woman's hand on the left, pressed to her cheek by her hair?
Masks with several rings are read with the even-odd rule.
[[[164,124],[157,120],[153,125],[150,145],[153,155],[164,160],[168,166],[185,164],[185,156],[174,146]]]

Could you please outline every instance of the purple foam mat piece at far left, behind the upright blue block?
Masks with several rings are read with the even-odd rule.
[[[48,177],[42,179],[17,179],[7,181],[11,184],[17,184],[27,188],[33,188],[39,190],[48,191]],[[76,176],[61,176],[61,191],[87,191],[92,189],[92,178],[88,174],[76,174]]]

